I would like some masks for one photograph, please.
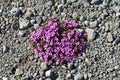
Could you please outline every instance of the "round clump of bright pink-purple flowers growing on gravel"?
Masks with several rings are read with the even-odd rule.
[[[80,56],[86,45],[86,32],[79,32],[78,26],[75,22],[65,20],[59,23],[54,19],[32,32],[29,37],[35,54],[48,64],[72,62],[73,58]]]

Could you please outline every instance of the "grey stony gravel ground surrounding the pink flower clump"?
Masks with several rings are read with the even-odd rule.
[[[27,35],[52,15],[88,32],[73,63],[47,65],[30,50]],[[0,80],[120,80],[120,0],[0,0]]]

